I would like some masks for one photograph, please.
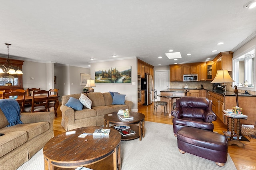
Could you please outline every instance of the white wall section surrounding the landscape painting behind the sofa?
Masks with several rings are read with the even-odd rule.
[[[118,66],[132,66],[132,83],[96,83],[94,92],[119,92],[120,94],[125,94],[125,99],[132,101],[132,111],[138,109],[138,67],[137,58],[131,57],[130,59],[115,60],[115,61],[104,61],[100,63],[90,63],[91,64],[91,78],[95,79],[95,69],[98,68],[108,68],[108,67],[118,67]]]

